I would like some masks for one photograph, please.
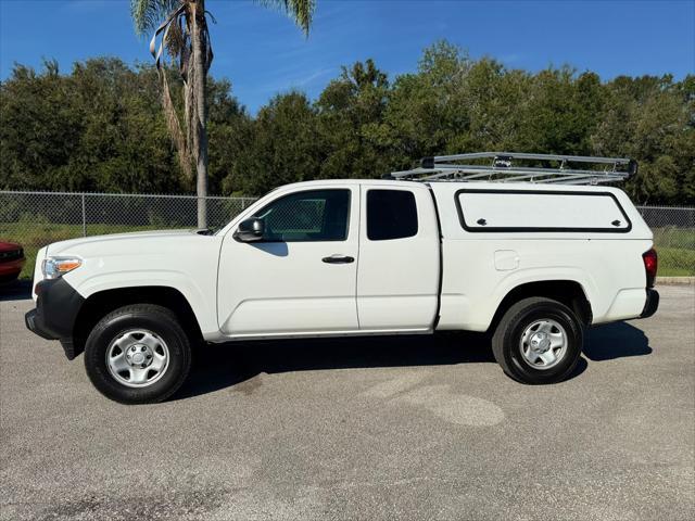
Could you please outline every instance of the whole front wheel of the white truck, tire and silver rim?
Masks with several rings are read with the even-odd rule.
[[[152,304],[121,307],[91,330],[85,368],[94,386],[122,404],[166,399],[190,369],[190,343],[169,309]]]

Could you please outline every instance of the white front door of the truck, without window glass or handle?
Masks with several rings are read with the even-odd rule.
[[[312,189],[336,188],[315,183]],[[244,215],[293,192],[281,188]],[[241,243],[224,233],[219,255],[218,316],[228,338],[357,331],[357,263],[330,265],[324,257],[358,254],[359,186],[350,187],[348,239],[340,242]],[[238,220],[238,219],[237,219]],[[271,318],[270,318],[271,317]]]

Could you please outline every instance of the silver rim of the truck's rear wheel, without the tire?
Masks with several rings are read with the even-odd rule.
[[[519,348],[531,367],[549,369],[567,353],[567,332],[563,326],[549,318],[536,320],[523,331]]]

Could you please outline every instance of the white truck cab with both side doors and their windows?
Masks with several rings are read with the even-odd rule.
[[[240,225],[256,228],[245,234]],[[421,183],[289,185],[220,233],[217,313],[226,338],[434,326],[440,233]]]

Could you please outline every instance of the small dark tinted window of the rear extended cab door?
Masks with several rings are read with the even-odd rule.
[[[371,241],[403,239],[417,234],[417,207],[413,192],[369,190],[367,237]]]

